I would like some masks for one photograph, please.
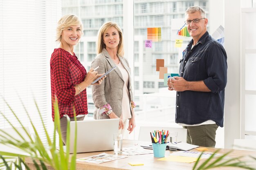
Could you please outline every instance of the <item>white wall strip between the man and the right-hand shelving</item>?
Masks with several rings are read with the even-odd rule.
[[[225,50],[228,81],[225,89],[225,148],[240,139],[240,0],[225,0]]]

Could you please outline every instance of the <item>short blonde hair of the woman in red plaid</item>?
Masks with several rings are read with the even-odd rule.
[[[83,24],[76,15],[66,14],[61,17],[61,19],[58,21],[56,28],[56,42],[61,42],[61,34],[63,29],[74,25],[80,25],[80,30],[83,35]]]

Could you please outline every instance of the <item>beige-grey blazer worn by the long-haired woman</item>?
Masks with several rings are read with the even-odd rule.
[[[121,56],[118,56],[118,58],[129,75],[128,89],[130,94],[130,102],[132,102],[133,92],[131,86],[131,74],[129,64],[126,58]],[[116,66],[115,62],[111,59],[106,49],[103,49],[103,51],[99,55],[97,55],[97,57],[92,61],[91,68],[96,68],[97,66],[99,66],[99,68],[97,69],[99,74],[106,73],[108,70]],[[104,106],[105,104],[110,104],[113,112],[118,117],[121,116],[123,87],[124,79],[118,67],[111,71],[100,85],[92,86],[92,99],[96,107],[94,110],[94,119],[109,119],[109,116],[105,113],[99,113],[99,108]],[[132,115],[131,103],[130,114]]]

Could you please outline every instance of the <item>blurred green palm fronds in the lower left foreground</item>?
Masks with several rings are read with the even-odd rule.
[[[21,170],[22,166],[26,167],[27,170],[30,170],[30,168],[25,163],[25,158],[30,157],[36,169],[40,170],[39,167],[41,167],[43,170],[46,170],[46,166],[50,165],[54,170],[75,170],[76,169],[76,134],[74,143],[74,154],[72,156],[69,155],[69,147],[70,147],[70,128],[67,126],[67,143],[66,143],[66,153],[63,150],[63,143],[61,139],[61,132],[60,132],[60,116],[59,116],[59,110],[58,110],[58,102],[55,102],[54,104],[54,136],[53,139],[50,139],[49,132],[47,132],[45,123],[43,122],[43,118],[40,114],[40,110],[38,108],[38,105],[36,104],[36,108],[38,110],[38,115],[40,116],[43,129],[45,132],[45,135],[47,137],[47,144],[43,144],[42,139],[40,139],[38,135],[38,131],[36,130],[33,121],[31,120],[31,117],[29,116],[29,113],[27,112],[24,104],[23,108],[25,109],[27,113],[27,117],[29,119],[29,122],[31,124],[31,127],[33,129],[34,139],[31,137],[25,126],[21,123],[21,121],[18,119],[16,113],[13,112],[9,104],[4,100],[4,102],[7,104],[9,109],[11,110],[11,113],[13,116],[17,119],[19,125],[22,127],[23,134],[27,135],[29,140],[25,140],[24,136],[22,136],[21,132],[17,130],[16,127],[11,124],[11,121],[8,120],[8,118],[1,112],[0,114],[4,119],[10,124],[10,126],[13,128],[13,130],[16,131],[20,139],[17,139],[13,137],[12,135],[8,134],[4,131],[4,129],[0,129],[0,144],[18,149],[20,151],[23,151],[24,154],[21,153],[13,153],[13,152],[3,152],[0,151],[0,159],[2,159],[2,162],[0,162],[0,169],[5,168],[7,170],[11,170],[12,167],[15,167],[16,169]],[[74,112],[75,114],[75,112]],[[75,118],[76,121],[76,118]],[[70,124],[70,118],[67,116],[67,124]],[[75,127],[75,133],[76,133]],[[59,134],[59,150],[56,149],[56,130],[58,130]]]

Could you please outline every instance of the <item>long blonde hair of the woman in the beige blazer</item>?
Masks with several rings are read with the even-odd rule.
[[[117,23],[111,22],[111,21],[104,23],[98,31],[98,35],[97,35],[98,40],[96,42],[97,54],[101,53],[102,50],[105,48],[105,44],[103,42],[103,34],[106,33],[106,31],[111,26],[114,26],[115,29],[117,29],[117,31],[119,33],[120,42],[117,47],[117,54],[120,55],[121,57],[124,57],[124,40],[123,40],[122,29],[120,28],[120,26]]]

